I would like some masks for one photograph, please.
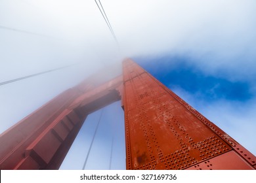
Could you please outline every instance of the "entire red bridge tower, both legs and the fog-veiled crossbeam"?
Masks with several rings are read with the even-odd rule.
[[[255,169],[253,154],[131,59],[123,76],[87,79],[3,133],[0,168],[58,169],[87,115],[119,99],[127,169]]]

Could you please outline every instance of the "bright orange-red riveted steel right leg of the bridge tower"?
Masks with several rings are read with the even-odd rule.
[[[253,154],[137,63],[123,63],[123,82],[127,169],[255,169]]]

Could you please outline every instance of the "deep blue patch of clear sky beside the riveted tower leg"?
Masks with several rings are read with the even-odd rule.
[[[169,88],[180,87],[189,93],[194,93],[198,99],[209,102],[216,99],[246,102],[253,97],[249,80],[231,81],[218,73],[209,76],[189,65],[192,58],[186,58],[186,55],[150,58],[153,60],[150,63],[146,61],[147,59],[136,60]]]

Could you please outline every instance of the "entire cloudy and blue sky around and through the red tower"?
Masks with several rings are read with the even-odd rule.
[[[255,1],[100,2],[118,43],[94,0],[0,1],[0,82],[69,65],[1,85],[0,133],[102,68],[120,74],[132,58],[256,155]],[[61,169],[82,169],[100,112]],[[118,102],[104,108],[85,169],[125,169],[122,116]]]

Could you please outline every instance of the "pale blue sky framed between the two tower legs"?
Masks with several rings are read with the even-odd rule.
[[[125,169],[124,118],[120,106],[121,102],[117,101],[87,117],[60,169],[83,169],[87,154],[85,169]],[[98,130],[89,152],[98,120]]]

